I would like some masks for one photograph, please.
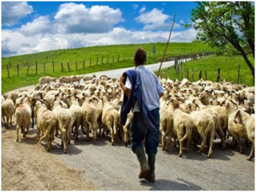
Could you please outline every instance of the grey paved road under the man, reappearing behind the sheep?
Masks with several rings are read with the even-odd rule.
[[[163,64],[163,68],[169,64]],[[159,64],[151,70],[158,70]],[[155,68],[154,68],[155,67]],[[124,70],[97,72],[97,77],[107,74],[109,77],[120,77]],[[136,155],[124,142],[118,141],[111,146],[110,137],[98,138],[96,143],[85,141],[80,132],[79,140],[71,141],[67,154],[63,154],[60,139],[56,138],[51,153],[71,168],[84,172],[83,176],[98,190],[255,190],[254,162],[246,161],[250,149],[239,154],[237,149],[221,150],[220,141],[214,143],[213,156],[204,155],[190,147],[183,158],[178,157],[178,150],[171,147],[169,153],[159,147],[156,155],[156,182],[149,183],[137,178],[139,162]],[[230,140],[227,140],[230,143]]]

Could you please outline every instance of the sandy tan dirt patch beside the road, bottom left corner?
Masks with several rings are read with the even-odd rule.
[[[83,172],[48,153],[35,135],[30,129],[26,139],[16,142],[15,127],[2,127],[2,190],[95,190]]]

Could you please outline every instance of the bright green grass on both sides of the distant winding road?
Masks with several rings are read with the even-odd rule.
[[[165,43],[148,43],[120,46],[93,46],[70,50],[51,50],[38,54],[26,54],[10,58],[2,58],[2,94],[23,86],[35,85],[42,76],[59,78],[62,75],[88,74],[100,70],[112,70],[133,66],[133,54],[136,48],[143,47],[148,54],[147,63],[161,61],[165,50]],[[156,48],[155,55],[152,47]],[[202,52],[214,51],[209,46],[197,42],[169,43],[165,58]],[[239,83],[254,85],[250,70],[242,58],[208,57],[201,58],[182,65],[183,73],[176,73],[174,68],[161,70],[163,78],[186,78],[189,69],[189,80],[192,81],[191,70],[194,71],[194,80],[198,80],[198,71],[207,70],[207,78],[216,81],[217,68],[221,69],[221,78],[237,82],[237,68],[241,66],[242,79]],[[180,65],[181,66],[181,65]],[[8,70],[9,74],[8,74]],[[69,68],[68,68],[69,67]]]

